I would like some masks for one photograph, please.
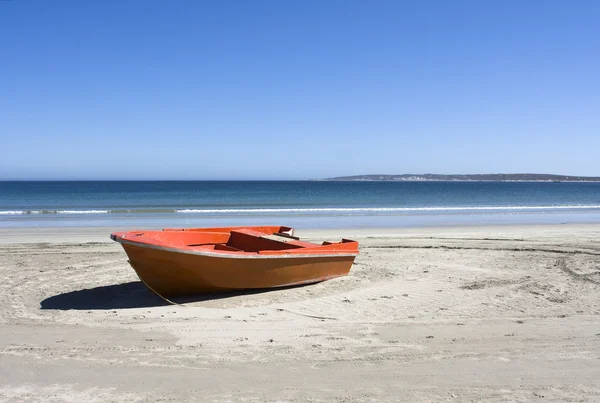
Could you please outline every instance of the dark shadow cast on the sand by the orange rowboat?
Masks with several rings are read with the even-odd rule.
[[[296,287],[298,286],[282,288]],[[279,290],[282,288],[279,288]],[[270,291],[273,291],[273,289],[255,289],[219,294],[204,294],[193,297],[176,298],[173,299],[173,302],[185,304],[231,298],[241,295],[260,294]],[[102,309],[147,308],[166,305],[170,304],[146,288],[141,281],[132,281],[130,283],[106,285],[102,287],[87,288],[85,290],[66,292],[48,297],[40,302],[41,309],[75,309],[88,311]]]

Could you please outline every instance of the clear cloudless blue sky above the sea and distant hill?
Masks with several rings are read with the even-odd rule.
[[[0,179],[600,175],[598,1],[0,1]]]

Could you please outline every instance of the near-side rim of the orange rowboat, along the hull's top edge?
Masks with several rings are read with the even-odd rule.
[[[181,249],[181,248],[162,246],[162,245],[154,245],[154,244],[150,244],[150,243],[130,241],[128,239],[123,239],[123,238],[119,238],[116,236],[113,237],[113,235],[111,235],[111,239],[113,241],[119,242],[124,245],[138,246],[141,248],[155,249],[155,250],[161,250],[161,251],[165,251],[165,252],[183,253],[183,254],[187,254],[187,255],[207,256],[207,257],[226,258],[226,259],[296,259],[296,258],[298,258],[298,259],[299,258],[304,258],[304,259],[313,258],[314,259],[314,258],[327,258],[327,257],[356,257],[359,254],[358,251],[356,251],[355,253],[349,253],[346,251],[339,252],[339,253],[335,253],[335,252],[332,253],[331,251],[326,251],[326,252],[322,252],[322,253],[305,253],[305,254],[285,253],[285,252],[281,253],[281,254],[268,254],[268,255],[261,255],[260,253],[250,254],[249,252],[244,252],[244,254],[234,254],[234,253],[227,252],[227,251],[211,252],[211,251],[199,251],[199,250]]]

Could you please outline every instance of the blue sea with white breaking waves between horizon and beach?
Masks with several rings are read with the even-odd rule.
[[[0,182],[0,227],[421,227],[600,222],[600,183]]]

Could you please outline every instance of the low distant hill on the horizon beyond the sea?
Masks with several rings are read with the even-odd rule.
[[[598,176],[571,176],[551,174],[401,174],[401,175],[355,175],[339,176],[322,180],[335,181],[494,181],[494,182],[600,182]]]

